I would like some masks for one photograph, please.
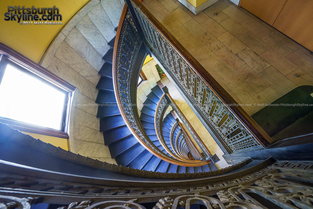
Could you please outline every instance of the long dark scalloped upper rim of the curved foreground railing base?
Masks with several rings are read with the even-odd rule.
[[[60,147],[56,147],[49,143],[43,142],[39,139],[35,139],[28,134],[24,134],[17,129],[13,129],[10,126],[0,122],[0,141],[1,139],[9,138],[14,141],[18,146],[26,146],[29,149],[35,149],[42,152],[42,155],[51,155],[59,159],[64,159],[66,161],[71,161],[85,166],[90,166],[100,170],[110,171],[113,173],[131,175],[131,176],[140,176],[148,178],[158,178],[158,179],[186,179],[186,178],[203,178],[208,176],[217,176],[223,175],[228,172],[234,171],[238,168],[241,168],[247,165],[251,159],[245,159],[240,163],[237,163],[233,166],[229,166],[220,170],[208,171],[202,173],[162,173],[162,172],[153,172],[133,169],[130,167],[117,166],[107,162],[95,160],[89,157],[85,157],[73,152],[64,150]],[[25,149],[28,150],[28,149]],[[40,156],[42,156],[40,155]],[[38,157],[40,157],[38,156]],[[119,181],[121,183],[121,181]],[[120,184],[119,184],[120,186]],[[129,186],[129,184],[128,184]]]

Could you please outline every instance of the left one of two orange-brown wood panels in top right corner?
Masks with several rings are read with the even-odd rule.
[[[287,0],[242,0],[241,7],[269,25],[273,25],[286,1]]]

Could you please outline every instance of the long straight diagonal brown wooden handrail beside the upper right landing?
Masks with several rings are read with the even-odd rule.
[[[274,143],[274,140],[240,107],[223,87],[208,73],[207,70],[180,44],[174,36],[138,1],[130,0],[145,19],[153,25],[161,37],[174,48],[182,59],[189,64],[193,72],[201,78],[201,81],[210,89],[227,109],[239,121],[239,124],[263,147]],[[138,18],[138,16],[137,16]]]

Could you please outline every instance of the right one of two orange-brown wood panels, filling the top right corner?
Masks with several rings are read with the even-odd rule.
[[[313,51],[313,0],[288,0],[273,27]]]

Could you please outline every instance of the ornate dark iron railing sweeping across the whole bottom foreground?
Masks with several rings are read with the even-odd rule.
[[[190,174],[140,171],[71,153],[1,123],[0,144],[4,209],[30,209],[39,203],[62,205],[59,209],[145,209],[145,203],[152,202],[157,202],[153,209],[190,209],[191,204],[221,209],[313,207],[311,161],[245,160]],[[145,175],[138,177],[142,172]]]

